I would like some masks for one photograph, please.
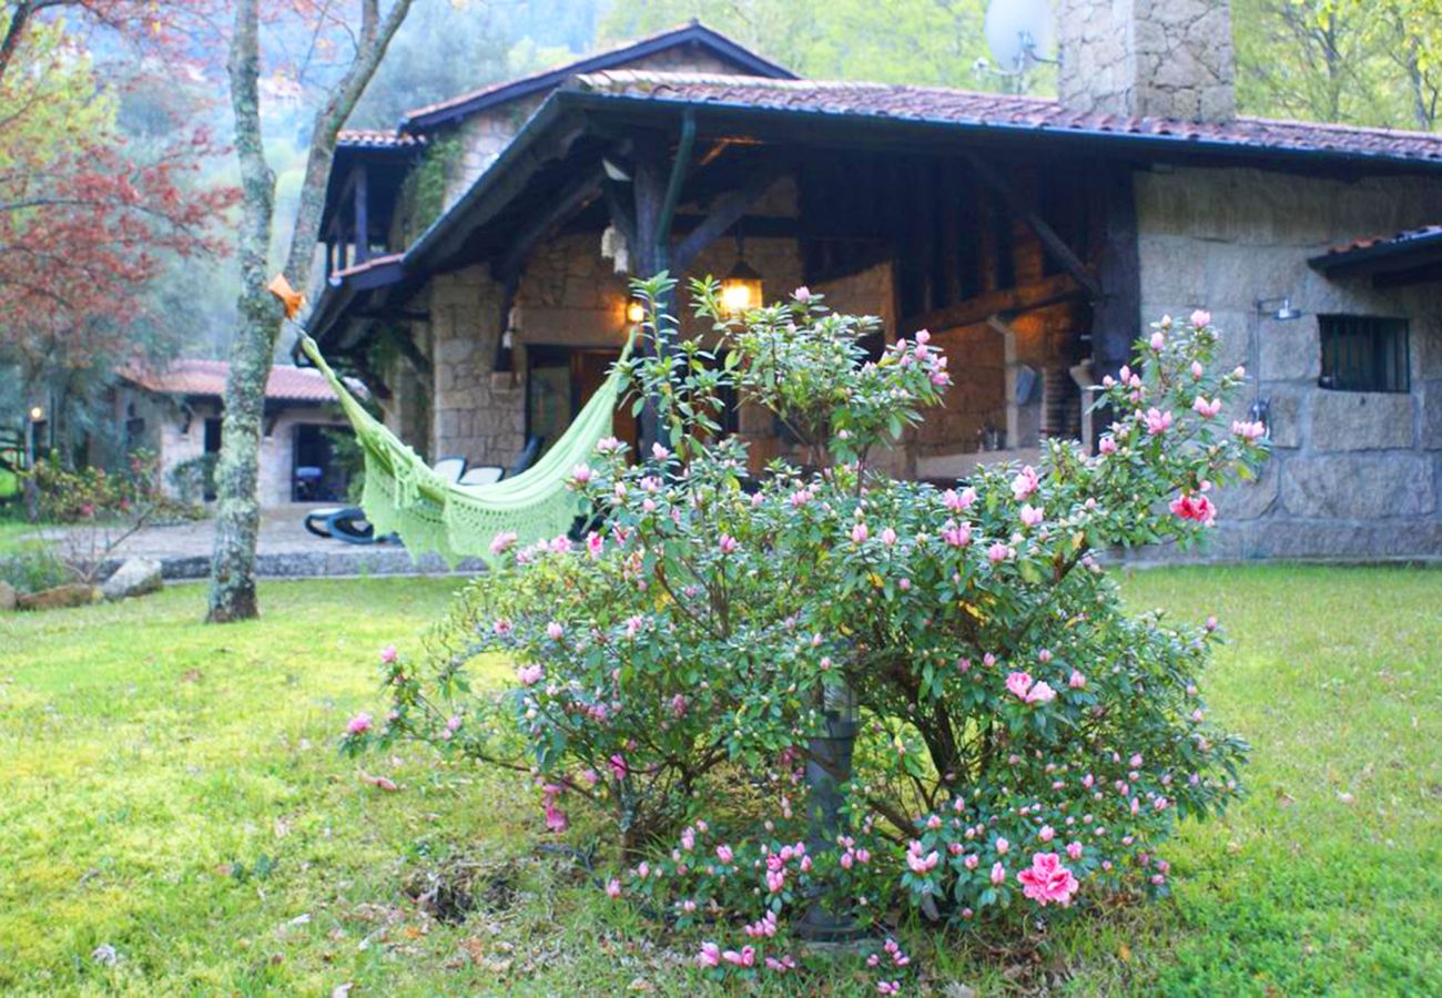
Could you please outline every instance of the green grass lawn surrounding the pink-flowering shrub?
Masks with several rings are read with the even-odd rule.
[[[196,587],[0,617],[0,991],[705,992],[694,940],[668,949],[535,852],[523,785],[420,750],[336,754],[381,704],[376,649],[454,586],[271,584],[265,619],[231,627],[199,623]],[[1255,746],[1250,795],[1169,849],[1175,898],[1069,926],[1031,962],[911,930],[936,992],[1442,992],[1442,573],[1185,568],[1126,591],[1229,629],[1207,692]],[[411,893],[459,862],[477,904],[431,920]]]

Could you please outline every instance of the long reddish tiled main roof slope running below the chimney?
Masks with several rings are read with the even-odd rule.
[[[1053,134],[1152,137],[1257,151],[1315,151],[1442,163],[1442,136],[1390,128],[1270,118],[1175,121],[1069,111],[1056,100],[979,94],[900,84],[767,79],[611,69],[584,74],[574,87],[652,101],[717,104],[793,114],[891,118]]]

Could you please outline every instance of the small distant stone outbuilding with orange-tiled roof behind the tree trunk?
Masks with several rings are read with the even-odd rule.
[[[221,453],[225,361],[177,361],[164,371],[120,369],[111,405],[124,450],[144,449],[160,462],[162,487],[183,496],[176,469],[212,462]],[[360,388],[359,385],[356,387]],[[345,430],[336,395],[319,371],[278,365],[265,382],[265,421],[260,449],[261,506],[345,499],[346,472],[333,459],[327,430]]]

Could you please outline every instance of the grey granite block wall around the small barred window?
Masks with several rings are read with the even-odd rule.
[[[1177,169],[1139,175],[1136,199],[1144,327],[1164,313],[1210,309],[1221,362],[1247,365],[1255,395],[1270,401],[1273,456],[1255,485],[1218,496],[1218,528],[1203,555],[1442,555],[1439,287],[1377,290],[1306,265],[1328,247],[1442,216],[1442,183]],[[1278,296],[1291,296],[1304,317],[1259,317],[1256,301]],[[1330,313],[1409,319],[1412,391],[1319,388],[1318,314]]]

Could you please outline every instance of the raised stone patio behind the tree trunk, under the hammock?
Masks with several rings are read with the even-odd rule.
[[[306,513],[319,506],[296,503],[267,509],[261,518],[255,571],[267,578],[311,578],[323,575],[444,575],[476,574],[485,568],[479,560],[466,560],[451,570],[434,554],[412,561],[399,544],[356,545],[319,538],[307,532]],[[206,578],[211,574],[213,521],[150,526],[125,538],[110,561],[127,557],[154,558],[166,581]],[[63,529],[46,531],[46,538],[61,544]],[[101,571],[101,577],[110,568]]]

